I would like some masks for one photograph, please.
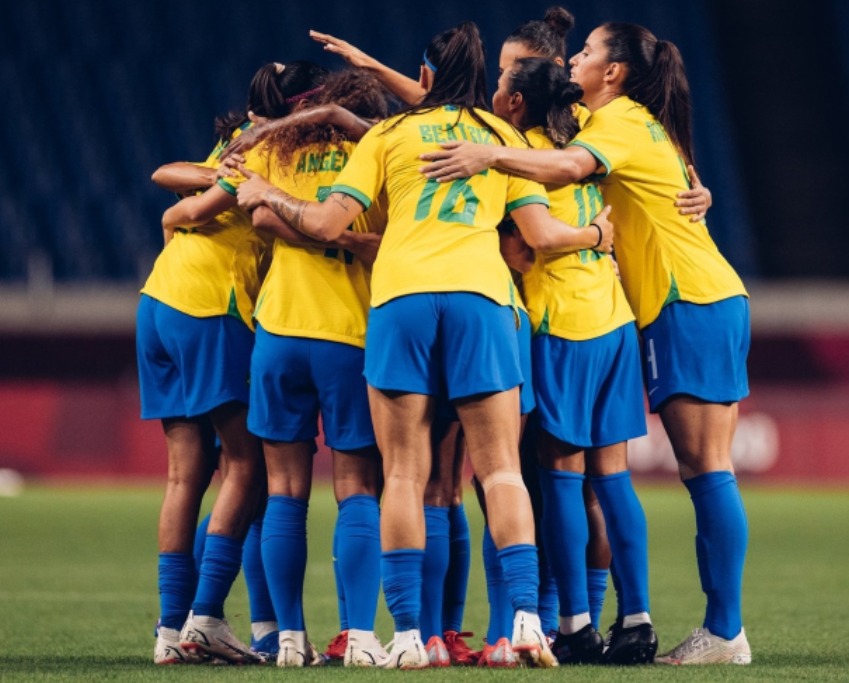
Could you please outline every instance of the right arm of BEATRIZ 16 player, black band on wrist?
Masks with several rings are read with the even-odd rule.
[[[613,223],[610,207],[596,214],[589,227],[576,228],[554,218],[544,204],[524,204],[510,212],[510,217],[532,249],[593,249],[609,254],[613,251]]]

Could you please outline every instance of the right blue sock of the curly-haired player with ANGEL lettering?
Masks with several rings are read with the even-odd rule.
[[[343,630],[374,630],[380,593],[380,508],[374,496],[350,496],[339,503],[336,562],[345,596]]]

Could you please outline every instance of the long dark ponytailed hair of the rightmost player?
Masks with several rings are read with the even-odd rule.
[[[637,24],[608,23],[602,28],[607,60],[628,65],[625,94],[654,115],[684,161],[695,163],[690,84],[678,48]]]

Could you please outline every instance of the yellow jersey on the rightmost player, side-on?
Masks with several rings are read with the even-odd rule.
[[[640,328],[672,301],[746,296],[706,223],[678,213],[675,196],[690,188],[687,168],[648,109],[618,97],[594,111],[570,145],[585,148],[606,169],[600,186],[613,207],[616,258]]]

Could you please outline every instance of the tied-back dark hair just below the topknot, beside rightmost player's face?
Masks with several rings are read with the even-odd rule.
[[[569,80],[566,69],[542,57],[517,59],[510,69],[510,93],[525,102],[522,128],[543,126],[556,147],[565,147],[578,132],[572,106],[584,91]]]

